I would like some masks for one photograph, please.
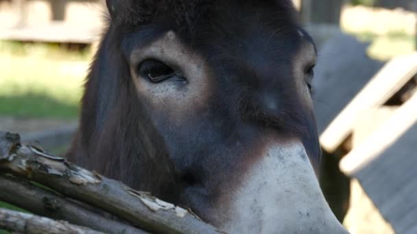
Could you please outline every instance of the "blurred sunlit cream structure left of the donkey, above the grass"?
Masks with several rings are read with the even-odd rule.
[[[0,8],[0,39],[90,44],[99,40],[102,0],[11,0]],[[3,4],[4,5],[4,4]]]

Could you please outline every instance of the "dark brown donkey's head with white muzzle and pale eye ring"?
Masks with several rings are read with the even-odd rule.
[[[67,157],[228,233],[346,233],[320,190],[291,0],[107,0]]]

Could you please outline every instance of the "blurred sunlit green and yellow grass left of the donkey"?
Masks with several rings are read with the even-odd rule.
[[[0,41],[0,115],[78,116],[91,51]]]

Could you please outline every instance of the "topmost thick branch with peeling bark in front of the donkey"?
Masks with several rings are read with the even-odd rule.
[[[153,233],[219,233],[191,212],[80,168],[0,132],[0,172],[29,179]]]

